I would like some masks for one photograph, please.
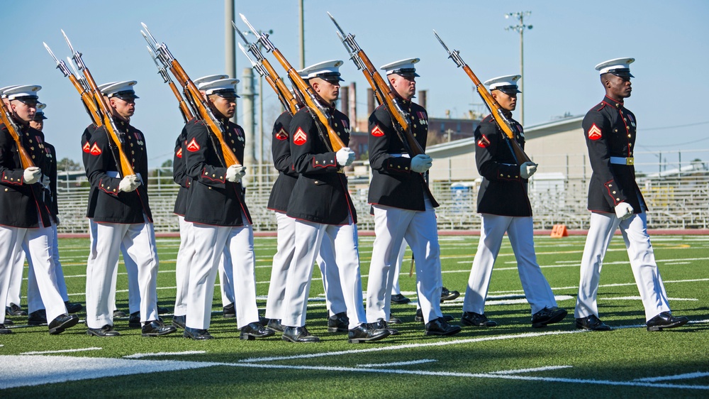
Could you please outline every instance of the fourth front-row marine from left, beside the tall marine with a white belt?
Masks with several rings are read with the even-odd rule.
[[[350,120],[334,107],[340,94],[340,65],[340,60],[319,62],[298,73],[330,111],[330,127],[346,145],[350,141]],[[305,327],[306,311],[313,263],[323,241],[329,241],[335,262],[327,267],[337,267],[340,275],[347,304],[348,339],[351,343],[376,341],[388,337],[389,331],[375,329],[366,322],[357,251],[357,212],[347,191],[347,177],[342,173],[342,167],[354,161],[354,152],[347,147],[333,151],[330,138],[318,133],[323,129],[319,123],[313,111],[305,107],[296,112],[289,127],[291,159],[299,175],[287,211],[289,217],[296,219],[296,239],[286,278],[286,310],[281,319],[286,328],[281,338],[291,342],[319,341]]]

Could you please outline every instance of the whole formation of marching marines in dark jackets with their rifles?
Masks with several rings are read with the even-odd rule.
[[[144,28],[156,61],[163,64],[165,82],[175,87],[167,74],[169,69],[182,87],[182,94],[179,90],[174,93],[186,120],[175,143],[173,163],[174,181],[180,185],[174,213],[179,217],[181,236],[174,317],[172,325],[158,317],[158,257],[145,179],[145,136],[130,125],[138,99],[136,82],[96,85],[81,53],[72,49],[84,78],[69,72],[70,79],[82,93],[94,121],[82,136],[84,167],[91,182],[86,214],[91,226],[86,265],[87,334],[120,335],[113,328],[113,317],[116,270],[122,252],[128,269],[130,322],[142,329],[143,336],[163,336],[179,328],[184,337],[212,339],[208,329],[220,270],[223,302],[231,304],[225,306],[225,313],[235,313],[241,339],[281,332],[284,341],[318,341],[306,328],[311,276],[317,263],[331,315],[328,331],[346,332],[352,343],[378,341],[398,334],[391,327],[398,320],[391,317],[390,307],[392,300],[406,300],[398,293],[392,295],[406,244],[415,259],[417,319],[424,322],[425,335],[451,336],[461,331],[461,327],[450,324],[453,318],[443,315],[440,308],[442,300],[457,293],[442,285],[435,217],[438,204],[427,180],[432,167],[432,158],[425,155],[428,114],[411,101],[419,77],[415,69],[418,58],[384,65],[382,77],[354,42],[354,36],[342,32],[352,60],[369,74],[368,81],[381,104],[369,116],[372,180],[368,202],[374,214],[376,239],[365,301],[357,213],[343,173],[343,168],[354,161],[354,152],[347,147],[350,120],[335,108],[342,61],[320,62],[295,71],[286,67],[287,61],[268,36],[250,26],[259,43],[284,65],[294,89],[291,92],[275,75],[256,43],[249,46],[257,58],[255,67],[267,75],[286,109],[273,129],[272,154],[279,177],[268,208],[277,215],[277,253],[265,317],[259,317],[252,219],[241,184],[247,168],[239,161],[245,134],[230,121],[235,114],[239,81],[227,75],[189,79],[167,46],[159,45]],[[464,65],[457,51],[449,53],[457,65]],[[636,121],[623,103],[631,93],[629,65],[633,61],[620,58],[596,66],[605,97],[584,119],[593,176],[588,192],[591,229],[581,261],[574,312],[579,329],[610,329],[598,317],[596,293],[603,256],[619,227],[642,297],[647,329],[657,331],[688,322],[686,317],[671,315],[647,236],[647,207],[635,183],[632,151]],[[486,317],[484,305],[505,233],[531,306],[532,327],[561,322],[567,312],[557,307],[535,256],[527,182],[537,165],[524,153],[523,127],[512,119],[520,75],[488,80],[486,89],[467,65],[465,68],[492,113],[475,131],[475,163],[483,177],[477,209],[482,227],[461,322],[475,327],[496,325]],[[39,90],[36,85],[0,89],[0,240],[10,243],[0,247],[0,260],[4,262],[0,268],[0,299],[8,314],[22,312],[16,282],[21,282],[25,253],[30,264],[30,322],[46,322],[50,334],[59,334],[77,324],[79,318],[71,313],[81,305],[68,301],[58,258],[56,159],[42,133],[45,117]],[[0,333],[11,332],[6,328],[5,315],[0,315]]]

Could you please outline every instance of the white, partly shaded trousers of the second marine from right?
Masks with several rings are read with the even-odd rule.
[[[480,315],[484,313],[492,268],[500,253],[506,231],[517,259],[522,289],[532,307],[532,315],[545,307],[557,306],[552,288],[537,264],[532,217],[482,214],[480,241],[465,290],[463,312],[475,312]],[[418,262],[418,259],[416,261]]]

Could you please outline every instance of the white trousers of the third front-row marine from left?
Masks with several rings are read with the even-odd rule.
[[[254,232],[252,226],[246,223],[245,215],[242,215],[242,219],[244,226],[192,224],[195,257],[189,268],[187,327],[209,328],[214,281],[224,251],[229,251],[232,258],[237,327],[259,321],[256,306]]]

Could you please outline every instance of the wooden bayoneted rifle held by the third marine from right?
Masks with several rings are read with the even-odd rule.
[[[337,27],[337,31],[339,31],[337,32],[337,37],[340,38],[342,44],[345,45],[347,53],[350,53],[350,60],[354,62],[354,65],[357,66],[358,70],[362,70],[362,72],[364,72],[364,77],[367,79],[367,82],[369,82],[369,86],[372,87],[372,90],[374,90],[377,101],[379,104],[384,104],[386,106],[386,111],[389,112],[391,120],[396,121],[399,129],[394,130],[396,130],[401,142],[404,143],[404,146],[406,146],[406,151],[408,154],[411,158],[416,155],[423,154],[423,148],[421,148],[418,141],[416,141],[413,137],[411,122],[409,119],[410,116],[408,115],[408,112],[401,108],[401,105],[398,102],[398,97],[396,97],[396,94],[389,86],[389,83],[386,82],[381,75],[379,75],[379,72],[376,70],[374,65],[372,65],[372,61],[369,60],[367,54],[364,54],[364,50],[362,50],[362,48],[360,48],[354,40],[354,35],[352,35],[352,33],[347,33],[347,35],[345,35],[345,31],[342,31],[340,24],[335,21],[335,17],[333,17],[330,13],[328,13],[328,16],[330,16],[330,19],[333,20],[333,23],[335,23],[335,26]]]

